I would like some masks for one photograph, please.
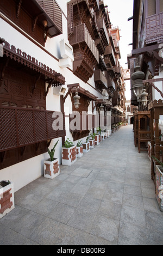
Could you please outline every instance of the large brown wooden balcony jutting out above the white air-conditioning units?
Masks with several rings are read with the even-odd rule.
[[[73,72],[87,82],[99,63],[99,53],[84,23],[74,27],[69,42],[74,53]]]

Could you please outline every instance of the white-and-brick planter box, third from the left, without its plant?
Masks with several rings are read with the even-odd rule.
[[[77,146],[74,145],[71,148],[62,147],[62,165],[71,166],[77,161]]]

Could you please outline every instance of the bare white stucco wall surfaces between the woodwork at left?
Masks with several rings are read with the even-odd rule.
[[[58,1],[60,7],[63,9],[65,15],[67,15],[67,2],[68,0]],[[2,14],[1,14],[2,15]],[[62,15],[62,25],[63,25],[63,34],[56,36],[52,39],[48,38],[45,50],[50,52],[55,58],[60,58],[60,45],[59,42],[61,39],[67,40],[67,20],[64,15]],[[4,38],[9,42],[10,46],[14,45],[17,48],[20,48],[22,52],[26,52],[30,56],[37,59],[39,62],[49,66],[53,70],[60,72],[66,78],[66,85],[72,83],[79,83],[80,87],[88,89],[90,93],[98,96],[99,99],[102,99],[102,95],[97,92],[95,89],[95,84],[93,81],[93,77],[90,78],[88,83],[84,83],[78,77],[73,75],[73,72],[67,68],[60,68],[58,60],[53,58],[50,54],[43,50],[43,47],[38,47],[34,44],[33,41],[30,41],[26,36],[18,32],[15,28],[9,25],[8,22],[4,21],[0,18],[0,37]],[[68,40],[67,40],[68,41]],[[91,84],[91,86],[89,86]],[[66,90],[67,92],[67,90]],[[66,93],[65,93],[66,94]],[[53,88],[49,89],[48,95],[46,97],[46,106],[47,110],[50,111],[60,111],[60,96],[53,94]],[[69,115],[72,112],[72,102],[70,96],[67,97],[65,104],[65,115]],[[89,106],[89,112],[91,113],[91,104]],[[95,111],[96,112],[96,111]],[[66,126],[66,138],[70,138],[73,141],[72,135],[69,132],[69,118],[65,118],[65,126]],[[53,147],[55,142],[58,139],[53,139],[49,149]],[[82,139],[85,141],[85,138]],[[55,150],[55,157],[59,158],[61,163],[61,138],[59,138],[59,143]],[[8,168],[4,168],[0,170],[0,180],[10,180],[14,182],[14,191],[19,190],[23,186],[29,184],[33,180],[39,178],[43,175],[43,161],[48,159],[48,153],[33,157],[32,159],[28,159],[26,161],[14,164]]]

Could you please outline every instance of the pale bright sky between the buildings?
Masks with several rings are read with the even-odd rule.
[[[112,27],[120,29],[120,65],[123,69],[128,69],[127,54],[133,50],[133,20],[128,21],[128,18],[133,16],[133,0],[104,0],[104,4],[108,5],[110,22]],[[126,99],[130,100],[130,81],[126,81]]]

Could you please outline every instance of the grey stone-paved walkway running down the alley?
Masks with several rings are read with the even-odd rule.
[[[133,126],[15,193],[0,220],[0,245],[162,245],[163,213],[151,162],[134,147]],[[22,170],[23,171],[23,170]]]

